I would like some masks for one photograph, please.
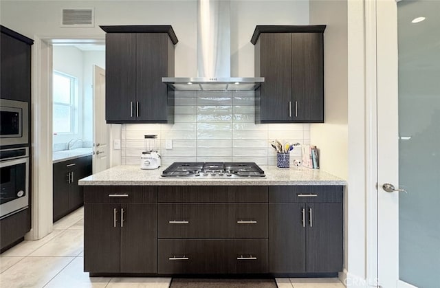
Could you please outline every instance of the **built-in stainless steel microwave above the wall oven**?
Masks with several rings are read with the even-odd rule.
[[[28,102],[0,99],[0,145],[28,144]]]

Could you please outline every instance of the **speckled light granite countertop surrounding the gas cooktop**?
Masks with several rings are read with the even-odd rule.
[[[109,168],[100,173],[80,179],[81,186],[344,186],[344,179],[317,169],[304,167],[276,168],[261,166],[266,177],[161,177],[160,167],[155,170],[142,170],[137,165],[121,165]]]

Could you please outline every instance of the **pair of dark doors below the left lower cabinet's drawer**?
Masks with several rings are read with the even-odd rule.
[[[95,273],[156,273],[157,205],[86,203],[84,269]]]

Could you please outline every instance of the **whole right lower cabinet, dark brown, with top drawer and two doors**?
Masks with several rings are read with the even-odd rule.
[[[270,272],[342,271],[342,187],[329,191],[326,186],[311,191],[300,186],[278,187],[272,188],[271,198]],[[276,203],[280,199],[291,203]]]

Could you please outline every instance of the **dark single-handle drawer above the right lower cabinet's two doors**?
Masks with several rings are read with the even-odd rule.
[[[270,186],[270,203],[340,203],[343,186]]]

